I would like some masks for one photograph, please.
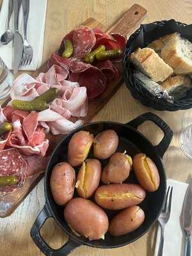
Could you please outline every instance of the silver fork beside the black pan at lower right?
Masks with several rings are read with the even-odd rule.
[[[158,223],[161,227],[161,238],[160,238],[159,250],[158,250],[157,256],[163,255],[164,226],[170,219],[170,213],[171,213],[171,207],[172,207],[172,193],[173,193],[173,187],[169,186],[168,191],[166,193],[166,199],[164,202],[163,211],[161,212],[158,218]]]

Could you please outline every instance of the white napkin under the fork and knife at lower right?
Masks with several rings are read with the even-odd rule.
[[[187,183],[168,179],[167,186],[173,186],[172,211],[170,220],[164,227],[164,247],[163,256],[183,256],[184,255],[184,234],[180,226],[180,215],[182,205],[188,188]],[[156,250],[157,256],[160,239],[160,227],[157,230]]]

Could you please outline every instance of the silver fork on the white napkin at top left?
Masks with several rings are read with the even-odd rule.
[[[20,66],[29,65],[33,59],[33,48],[28,42],[27,38],[27,25],[29,16],[29,0],[22,0],[23,20],[24,20],[24,42],[22,59],[20,60]]]

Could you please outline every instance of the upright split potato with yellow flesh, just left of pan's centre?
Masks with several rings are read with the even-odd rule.
[[[83,162],[78,174],[76,188],[79,196],[89,198],[99,187],[101,164],[97,159],[87,159]]]

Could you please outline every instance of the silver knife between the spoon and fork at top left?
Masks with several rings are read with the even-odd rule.
[[[19,10],[22,0],[13,0],[14,11],[14,53],[13,53],[13,72],[17,73],[20,60],[22,58],[22,36],[19,33]]]

